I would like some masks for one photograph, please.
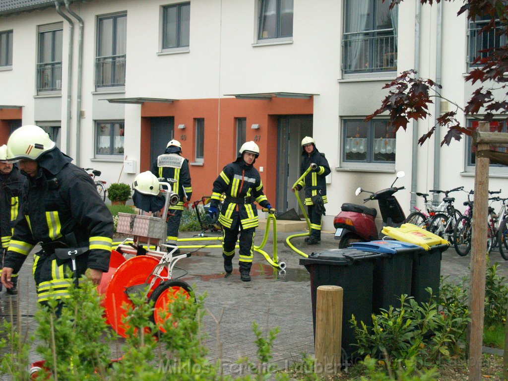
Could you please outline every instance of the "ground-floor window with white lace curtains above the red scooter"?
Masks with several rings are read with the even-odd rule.
[[[395,164],[396,138],[386,119],[346,119],[342,133],[342,163],[346,167]]]

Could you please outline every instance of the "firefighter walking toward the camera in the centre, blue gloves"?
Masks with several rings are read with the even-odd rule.
[[[252,266],[254,234],[259,225],[258,210],[254,201],[263,208],[271,209],[265,194],[263,183],[256,168],[253,167],[259,156],[259,147],[253,142],[246,142],[240,147],[240,155],[213,182],[213,193],[208,213],[214,217],[220,196],[226,194],[226,199],[219,214],[218,221],[223,229],[223,257],[224,270],[227,274],[233,272],[233,257],[235,245],[240,232],[239,266],[240,278],[244,282],[250,281],[250,267]]]

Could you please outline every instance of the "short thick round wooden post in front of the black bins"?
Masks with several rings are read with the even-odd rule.
[[[319,375],[333,375],[340,370],[343,292],[335,285],[317,288],[314,371]]]

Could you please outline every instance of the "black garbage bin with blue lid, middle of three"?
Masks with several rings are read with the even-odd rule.
[[[352,247],[382,254],[374,263],[372,311],[379,313],[380,308],[400,307],[400,296],[411,296],[413,256],[424,249],[411,243],[385,240],[355,242]]]

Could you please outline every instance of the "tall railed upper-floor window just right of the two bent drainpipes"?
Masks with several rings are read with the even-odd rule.
[[[126,14],[103,16],[97,21],[97,87],[125,85],[126,27]]]

